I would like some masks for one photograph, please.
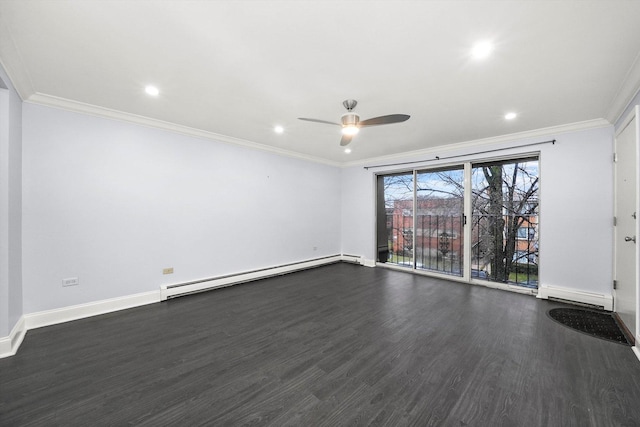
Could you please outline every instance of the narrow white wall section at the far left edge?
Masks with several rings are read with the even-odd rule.
[[[22,105],[0,67],[0,337],[22,316]]]

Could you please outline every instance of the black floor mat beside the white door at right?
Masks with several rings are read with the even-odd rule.
[[[631,345],[612,313],[582,308],[553,308],[549,317],[585,334],[619,344]]]

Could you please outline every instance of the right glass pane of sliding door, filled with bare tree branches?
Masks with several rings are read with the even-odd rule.
[[[537,159],[474,164],[472,277],[538,287]]]

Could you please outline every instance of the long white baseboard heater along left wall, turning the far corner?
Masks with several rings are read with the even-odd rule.
[[[209,291],[226,286],[238,285],[240,283],[252,282],[254,280],[265,279],[267,277],[281,276],[295,271],[306,270],[308,268],[319,267],[321,265],[333,264],[336,262],[351,262],[362,264],[361,257],[356,255],[329,255],[321,258],[314,258],[307,261],[282,264],[274,267],[260,268],[257,270],[243,271],[240,273],[228,274],[225,276],[210,277],[206,279],[192,280],[183,283],[161,285],[161,300],[176,298],[197,292]]]

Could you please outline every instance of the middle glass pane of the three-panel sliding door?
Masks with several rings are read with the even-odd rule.
[[[416,268],[463,275],[464,169],[416,174]]]

